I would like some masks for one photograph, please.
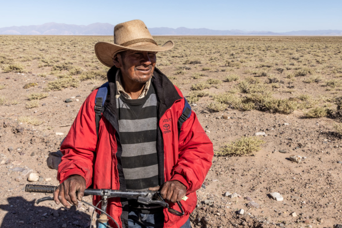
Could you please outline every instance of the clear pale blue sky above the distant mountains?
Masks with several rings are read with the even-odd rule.
[[[342,0],[0,0],[0,28],[57,22],[288,32],[342,30]]]

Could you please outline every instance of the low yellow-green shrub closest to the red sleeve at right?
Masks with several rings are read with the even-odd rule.
[[[221,147],[217,154],[222,156],[251,156],[261,150],[261,145],[264,143],[265,141],[257,136],[241,137]]]

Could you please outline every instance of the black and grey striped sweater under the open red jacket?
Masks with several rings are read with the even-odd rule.
[[[116,99],[121,162],[127,190],[158,186],[157,98],[153,86],[139,99]]]

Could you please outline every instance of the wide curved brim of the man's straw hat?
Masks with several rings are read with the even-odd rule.
[[[112,67],[113,56],[115,53],[123,50],[137,50],[137,51],[153,51],[160,52],[172,49],[175,44],[170,40],[167,41],[163,46],[156,46],[151,44],[144,43],[143,45],[137,45],[134,47],[123,47],[116,44],[111,44],[107,42],[98,42],[95,44],[95,54],[98,57],[98,60],[108,67]]]

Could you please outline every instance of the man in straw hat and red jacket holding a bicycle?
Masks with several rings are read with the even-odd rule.
[[[158,46],[140,20],[116,25],[114,44],[95,45],[100,62],[111,67],[108,96],[96,126],[97,90],[89,95],[61,146],[57,204],[77,205],[91,184],[122,191],[160,189],[176,210],[175,203],[188,197],[181,201],[183,216],[126,198],[110,198],[107,212],[122,228],[190,228],[195,191],[212,164],[213,148],[194,112],[178,130],[185,98],[155,68],[156,52],[173,46],[172,41]],[[111,220],[109,225],[115,227]]]

